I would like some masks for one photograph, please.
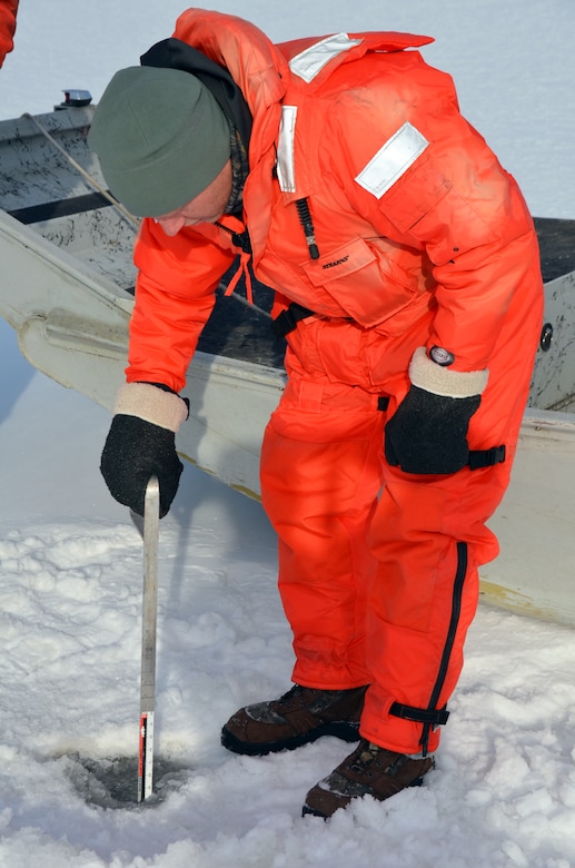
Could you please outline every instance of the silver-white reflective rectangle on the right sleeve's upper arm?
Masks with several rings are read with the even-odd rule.
[[[413,166],[428,145],[425,136],[406,121],[379,148],[355,180],[360,187],[373,194],[376,199],[380,199],[407,171],[409,166]]]

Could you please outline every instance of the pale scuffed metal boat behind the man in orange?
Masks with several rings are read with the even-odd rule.
[[[86,141],[91,112],[0,122],[0,315],[36,368],[111,411],[127,364],[137,227],[100,191]],[[545,328],[510,485],[489,522],[502,551],[480,571],[482,598],[575,624],[575,224],[536,223]],[[264,428],[285,386],[269,290],[258,285],[256,299],[249,308],[219,293],[188,371],[190,418],[177,438],[182,457],[251,497]]]

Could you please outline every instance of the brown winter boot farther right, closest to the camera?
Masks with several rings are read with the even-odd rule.
[[[413,759],[364,739],[331,775],[309,790],[303,813],[327,819],[361,796],[384,801],[406,787],[418,787],[433,767],[433,757]]]

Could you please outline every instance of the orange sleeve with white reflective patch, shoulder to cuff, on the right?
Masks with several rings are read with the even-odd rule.
[[[396,70],[390,60],[388,82],[361,91],[369,106],[348,107],[354,124],[336,120],[348,134],[331,159],[348,167],[339,179],[357,213],[383,237],[426,255],[437,303],[428,347],[454,353],[454,368],[483,369],[513,296],[523,293],[528,306],[541,294],[537,238],[517,184],[460,115],[450,78],[414,55]],[[406,130],[419,154],[401,165],[396,146]],[[390,152],[399,157],[395,178]]]

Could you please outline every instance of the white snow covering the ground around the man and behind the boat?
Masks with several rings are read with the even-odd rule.
[[[435,36],[425,56],[454,75],[465,114],[532,210],[575,218],[575,63],[563,39],[575,7],[383,6],[291,0],[281,14],[250,0],[240,13],[277,40],[340,29]],[[23,2],[0,117],[50,110],[65,87],[98,98],[181,9]],[[290,635],[261,507],[189,465],[160,525],[162,768],[158,795],[137,806],[142,545],[98,472],[108,414],[30,368],[3,322],[0,362],[1,866],[575,865],[568,628],[480,605],[437,768],[385,805],[366,799],[327,823],[300,817],[307,790],[349,752],[336,739],[266,758],[221,748],[220,727],[239,706],[288,689]]]

